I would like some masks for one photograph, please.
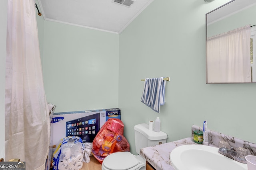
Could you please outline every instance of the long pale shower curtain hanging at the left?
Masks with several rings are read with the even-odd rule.
[[[33,0],[8,0],[5,102],[6,160],[44,170],[50,120]]]

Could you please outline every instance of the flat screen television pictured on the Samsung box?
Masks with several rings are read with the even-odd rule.
[[[100,130],[100,113],[80,117],[66,122],[66,137],[78,136],[85,142],[92,142]]]

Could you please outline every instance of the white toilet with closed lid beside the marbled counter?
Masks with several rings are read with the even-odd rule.
[[[134,126],[135,147],[138,155],[130,152],[115,152],[108,155],[102,162],[102,170],[146,170],[146,160],[140,156],[140,149],[166,143],[167,134],[150,131],[148,124]]]

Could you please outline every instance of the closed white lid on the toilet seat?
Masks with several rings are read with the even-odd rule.
[[[104,161],[104,166],[112,170],[127,170],[138,165],[138,160],[131,152],[115,152],[108,155]]]

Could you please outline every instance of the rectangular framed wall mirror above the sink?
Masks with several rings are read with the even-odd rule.
[[[256,0],[206,14],[206,84],[256,83]]]

